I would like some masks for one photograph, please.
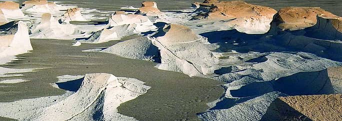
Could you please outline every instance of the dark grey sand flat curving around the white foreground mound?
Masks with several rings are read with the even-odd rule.
[[[223,93],[223,88],[218,86],[222,82],[159,70],[154,68],[154,62],[127,59],[102,52],[81,52],[92,47],[110,46],[117,41],[81,46],[71,46],[70,40],[31,39],[31,43],[31,53],[17,55],[18,60],[2,66],[46,69],[26,72],[21,77],[0,78],[31,80],[0,84],[1,102],[59,95],[64,90],[50,86],[50,83],[58,80],[56,76],[94,72],[133,77],[152,87],[147,93],[118,107],[119,113],[140,120],[197,119],[195,114],[205,111],[208,108],[206,103],[217,99]]]

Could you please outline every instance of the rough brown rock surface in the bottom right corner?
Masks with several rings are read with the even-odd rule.
[[[342,94],[279,97],[312,120],[342,119]]]

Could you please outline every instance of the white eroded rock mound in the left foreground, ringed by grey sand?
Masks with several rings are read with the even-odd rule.
[[[80,88],[60,96],[1,102],[0,116],[18,120],[136,120],[117,113],[120,103],[146,93],[149,86],[134,78],[86,74]]]

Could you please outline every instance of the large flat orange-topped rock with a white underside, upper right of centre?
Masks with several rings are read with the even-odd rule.
[[[262,34],[269,30],[276,10],[266,6],[249,4],[244,1],[205,0],[197,8],[193,19],[230,20],[227,28],[248,34]]]

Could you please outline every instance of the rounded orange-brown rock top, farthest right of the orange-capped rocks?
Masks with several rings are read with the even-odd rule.
[[[336,16],[319,7],[285,7],[281,8],[275,15],[274,21],[282,30],[299,30],[311,27],[317,23],[317,17],[333,19],[335,29],[341,32],[341,17]]]

